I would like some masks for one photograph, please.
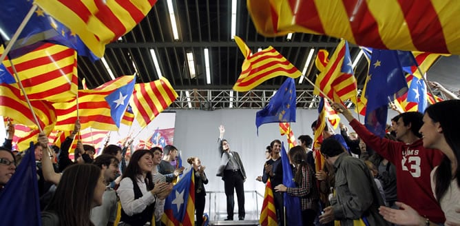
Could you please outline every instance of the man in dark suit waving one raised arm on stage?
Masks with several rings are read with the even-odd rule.
[[[238,198],[238,220],[244,220],[246,212],[244,211],[244,186],[246,181],[246,172],[238,152],[231,152],[227,140],[224,139],[224,126],[219,127],[220,136],[218,140],[218,150],[220,156],[220,166],[216,176],[221,176],[224,181],[225,196],[227,196],[227,219],[233,220],[233,207],[235,201],[233,198],[234,190]]]

